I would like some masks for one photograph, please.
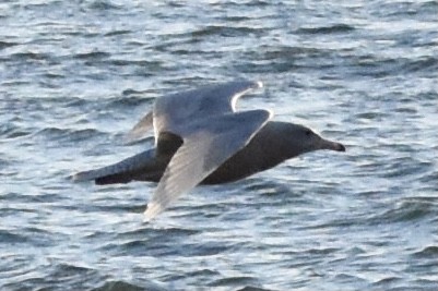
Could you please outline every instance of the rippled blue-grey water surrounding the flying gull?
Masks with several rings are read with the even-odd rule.
[[[0,290],[437,290],[438,2],[0,3]],[[153,223],[155,184],[73,183],[151,146],[154,98],[262,81],[342,142],[200,186]]]

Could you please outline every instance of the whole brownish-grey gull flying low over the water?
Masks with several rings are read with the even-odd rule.
[[[158,182],[145,211],[151,219],[197,184],[237,181],[307,151],[345,150],[303,125],[269,121],[270,111],[236,112],[236,99],[260,86],[232,82],[158,98],[131,131],[131,138],[138,138],[153,128],[154,148],[75,179]]]

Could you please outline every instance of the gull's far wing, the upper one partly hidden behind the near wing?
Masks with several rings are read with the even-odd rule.
[[[238,81],[158,98],[153,110],[155,137],[161,132],[182,135],[193,121],[234,112],[237,99],[259,87],[261,82]]]

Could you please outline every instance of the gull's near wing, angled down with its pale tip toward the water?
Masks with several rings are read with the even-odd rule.
[[[147,205],[145,219],[162,213],[244,148],[270,117],[268,110],[252,110],[192,124],[192,131],[182,135],[184,144],[171,158]]]

